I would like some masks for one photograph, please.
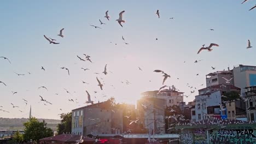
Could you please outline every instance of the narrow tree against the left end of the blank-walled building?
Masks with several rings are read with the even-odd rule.
[[[61,123],[57,125],[58,134],[71,133],[72,112],[61,113]]]

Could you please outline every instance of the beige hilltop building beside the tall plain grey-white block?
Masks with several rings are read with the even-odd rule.
[[[223,71],[216,71],[214,73],[210,73],[206,75],[206,87],[214,86],[214,85],[219,85],[222,83],[225,83],[226,85],[234,85],[234,81],[231,80],[230,83],[226,83],[226,80],[223,79],[231,79],[233,77],[232,72],[229,70],[223,70]]]

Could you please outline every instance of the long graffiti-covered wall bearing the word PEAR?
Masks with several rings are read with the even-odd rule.
[[[210,143],[256,143],[256,130],[254,129],[220,129],[210,130]]]

